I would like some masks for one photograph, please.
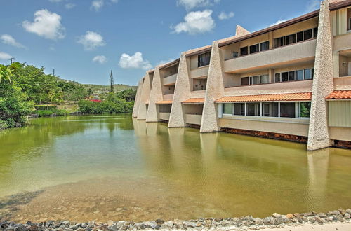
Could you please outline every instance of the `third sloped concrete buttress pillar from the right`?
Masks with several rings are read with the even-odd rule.
[[[182,53],[179,60],[176,87],[174,90],[173,104],[171,115],[169,117],[168,127],[185,127],[185,118],[182,102],[190,97],[190,80],[189,68],[185,52]]]

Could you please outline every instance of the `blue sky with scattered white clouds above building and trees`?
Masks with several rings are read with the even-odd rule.
[[[0,0],[0,64],[9,57],[79,83],[136,85],[180,52],[303,15],[319,0]]]

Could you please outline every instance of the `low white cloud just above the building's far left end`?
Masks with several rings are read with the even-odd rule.
[[[123,69],[151,69],[149,61],[143,59],[141,52],[135,52],[134,55],[122,54],[119,59],[119,66]]]

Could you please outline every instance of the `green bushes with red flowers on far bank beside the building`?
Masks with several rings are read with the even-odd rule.
[[[107,94],[103,102],[88,100],[80,100],[78,102],[79,111],[88,114],[128,113],[133,111],[133,105],[133,101],[127,102],[126,99],[121,99],[114,93]]]

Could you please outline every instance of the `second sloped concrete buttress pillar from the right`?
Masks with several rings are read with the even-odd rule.
[[[218,132],[220,130],[218,125],[218,106],[215,104],[215,100],[223,96],[223,59],[222,55],[220,55],[218,42],[215,41],[212,44],[211,60],[208,68],[200,132]]]

